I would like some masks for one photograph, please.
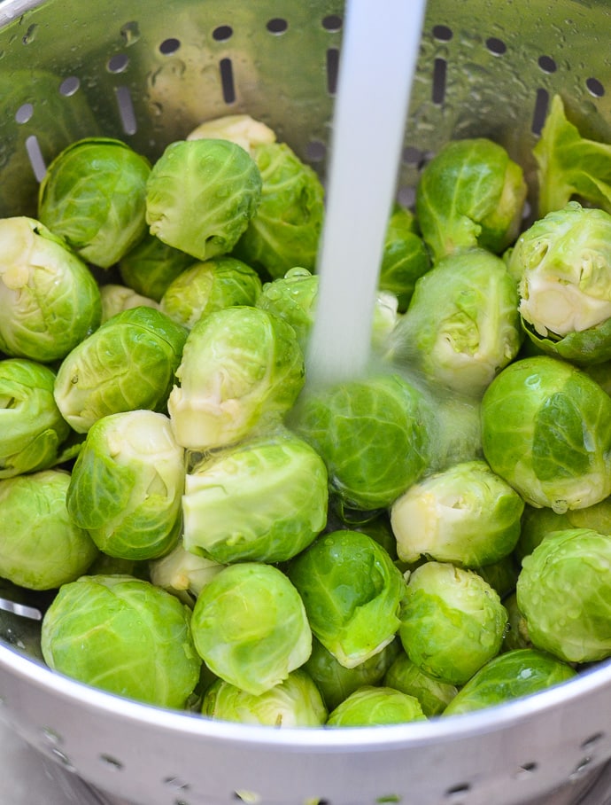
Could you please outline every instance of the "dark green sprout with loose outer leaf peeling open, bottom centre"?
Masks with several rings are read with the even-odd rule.
[[[367,534],[321,535],[291,559],[286,572],[303,599],[314,637],[345,668],[365,662],[395,637],[406,584]]]

